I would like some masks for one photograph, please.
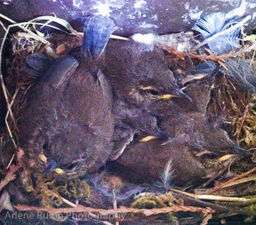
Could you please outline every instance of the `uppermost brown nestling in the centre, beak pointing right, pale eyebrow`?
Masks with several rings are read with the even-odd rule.
[[[158,99],[189,96],[178,89],[176,79],[164,61],[161,49],[133,41],[111,40],[106,48],[106,69],[117,98],[148,110]]]

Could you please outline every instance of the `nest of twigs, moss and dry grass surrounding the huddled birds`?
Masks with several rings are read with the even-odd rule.
[[[4,71],[8,76],[1,73],[1,85],[8,107],[5,118],[7,128],[1,136],[0,191],[3,192],[0,208],[4,224],[4,221],[9,224],[20,222],[17,216],[10,216],[15,212],[7,214],[7,211],[20,213],[21,218],[30,224],[38,224],[38,219],[46,224],[88,224],[88,221],[99,224],[211,224],[214,220],[219,222],[220,219],[224,222],[229,216],[234,215],[242,215],[243,220],[253,221],[253,216],[256,215],[255,157],[242,159],[236,155],[225,155],[221,159],[205,159],[204,164],[212,170],[213,176],[198,187],[187,190],[168,187],[161,193],[146,192],[145,188],[140,194],[132,195],[122,206],[117,204],[115,196],[115,189],[123,185],[122,181],[116,177],[113,179],[108,174],[104,174],[98,182],[108,187],[110,202],[101,199],[101,193],[95,187],[90,187],[90,182],[84,180],[55,182],[39,178],[35,183],[23,160],[26,149],[20,149],[17,139],[19,112],[22,107],[26,107],[26,91],[34,83],[32,78],[26,79],[22,76],[25,57],[32,53],[44,53],[52,58],[66,55],[69,49],[81,45],[83,34],[75,31],[67,21],[54,16],[41,16],[20,24],[2,14],[0,17],[12,24],[8,28],[3,26],[6,35],[0,51],[0,66],[8,68]],[[10,28],[14,26],[20,31],[10,33]],[[45,26],[54,29],[55,32],[44,36],[40,29],[44,29]],[[183,35],[186,34],[178,36]],[[7,37],[11,38],[13,55],[9,55],[3,61],[3,48]],[[200,43],[191,32],[189,42],[194,45]],[[211,60],[224,66],[225,61],[230,58],[243,57],[252,64],[255,63],[253,58],[247,56],[255,51],[255,46],[256,40],[247,38],[247,43],[244,43],[237,52],[215,55],[204,48],[203,53],[198,55],[192,50],[180,51],[175,45],[170,48],[160,44],[160,48],[166,50],[167,63],[170,64],[172,71],[179,74],[183,83],[202,78],[187,75],[191,64],[198,65],[201,61]],[[255,102],[255,95],[248,94],[234,80],[223,74],[216,78],[212,86],[207,117],[224,124],[225,130],[237,144],[253,151],[256,147]],[[12,199],[14,193],[19,193],[20,199]],[[22,204],[24,198],[30,200],[24,200]],[[15,200],[19,205],[15,204]],[[79,201],[79,205],[76,201]],[[102,207],[99,208],[99,205]],[[27,215],[32,217],[27,218]]]

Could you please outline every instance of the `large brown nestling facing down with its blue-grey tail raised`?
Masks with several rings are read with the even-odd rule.
[[[29,89],[20,113],[20,147],[33,172],[71,179],[98,170],[112,151],[113,117],[108,81],[93,64],[112,29],[84,28],[82,49],[63,56]],[[102,34],[103,32],[103,34]]]

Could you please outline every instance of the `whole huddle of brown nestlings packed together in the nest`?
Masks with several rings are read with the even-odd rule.
[[[179,86],[160,48],[109,40],[115,29],[93,15],[79,49],[56,60],[27,56],[36,79],[19,144],[34,175],[72,179],[112,162],[134,181],[157,181],[172,162],[172,182],[183,186],[206,175],[201,152],[250,155],[208,121],[210,81]]]

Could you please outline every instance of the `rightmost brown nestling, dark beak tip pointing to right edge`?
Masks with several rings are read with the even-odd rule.
[[[202,113],[177,113],[175,117],[164,118],[160,127],[171,138],[185,136],[183,141],[197,149],[197,153],[207,151],[218,156],[225,153],[252,155],[231,141],[224,130],[210,123]]]

